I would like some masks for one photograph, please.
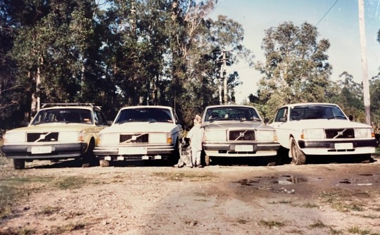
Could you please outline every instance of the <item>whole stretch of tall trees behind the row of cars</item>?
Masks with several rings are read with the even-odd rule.
[[[243,46],[241,24],[210,14],[217,0],[0,0],[0,131],[30,121],[42,103],[94,103],[109,120],[124,106],[163,105],[185,128],[205,106],[235,103],[239,61],[260,72],[244,104],[265,118],[286,103],[337,103],[365,122],[362,84],[331,80],[329,39],[286,21],[265,30],[265,61]],[[380,29],[377,32],[380,49]],[[359,46],[359,45],[358,45]],[[380,71],[380,68],[379,68]],[[380,72],[370,77],[380,125]]]

